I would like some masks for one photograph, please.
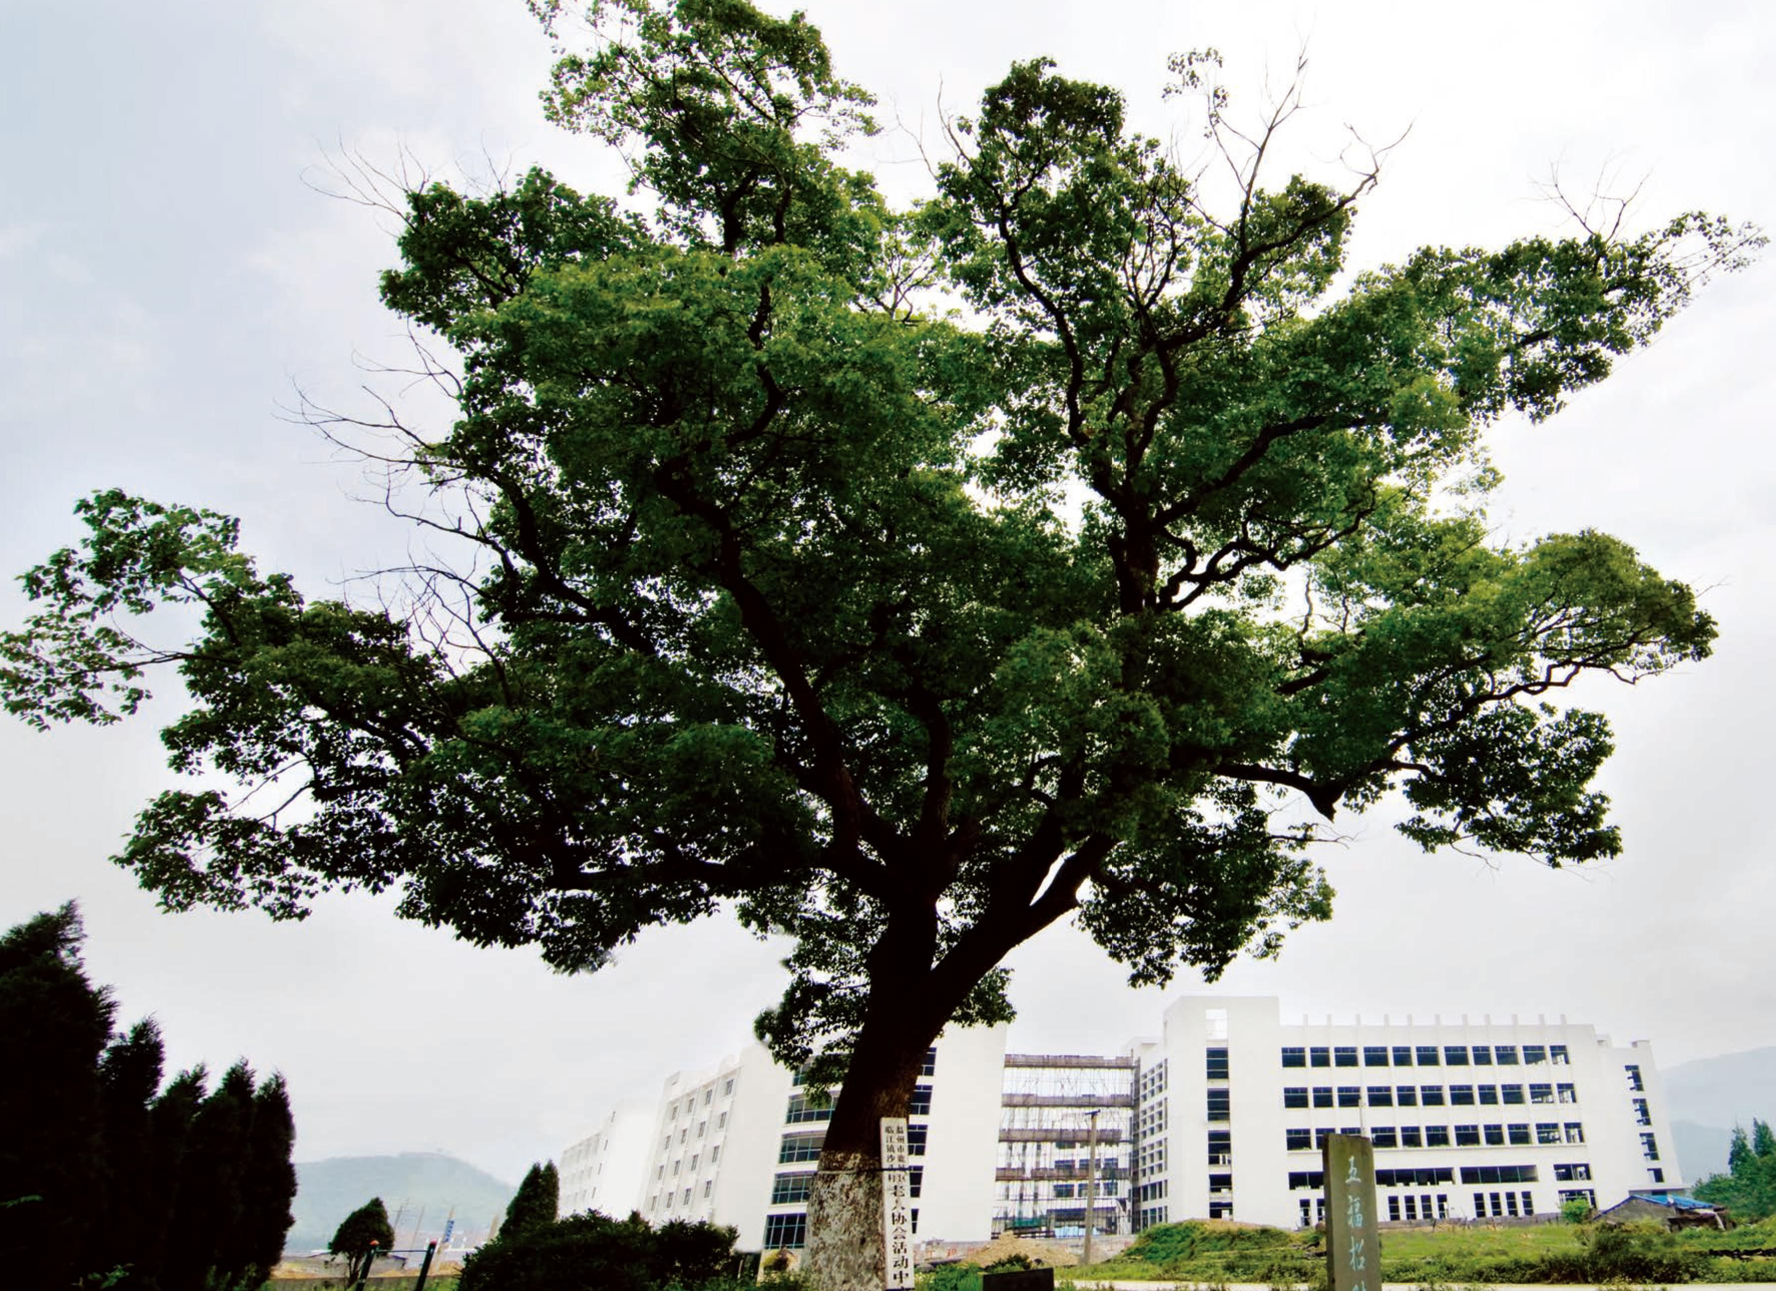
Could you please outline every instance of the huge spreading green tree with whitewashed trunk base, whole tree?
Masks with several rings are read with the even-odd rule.
[[[1043,929],[1213,977],[1328,915],[1309,820],[1389,790],[1424,847],[1618,851],[1607,725],[1552,700],[1714,623],[1606,535],[1492,540],[1481,433],[1606,376],[1753,231],[1350,273],[1373,167],[1270,185],[1288,103],[1238,135],[1201,57],[1172,71],[1229,183],[1034,60],[895,210],[842,165],[868,98],[806,21],[586,18],[549,110],[632,197],[400,201],[384,298],[453,346],[460,410],[373,449],[440,552],[408,595],[307,600],[234,520],[119,492],[25,575],[12,712],[115,721],[156,664],[190,696],[163,737],[201,785],[119,858],[167,907],[394,888],[561,970],[718,909],[787,934],[758,1032],[836,1081],[808,1266],[847,1291],[881,1286],[877,1119],[945,1025],[1011,1016]],[[165,604],[183,645],[137,627]]]

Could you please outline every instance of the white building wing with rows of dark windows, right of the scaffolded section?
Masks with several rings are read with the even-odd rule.
[[[1320,1144],[1375,1144],[1387,1220],[1545,1215],[1680,1192],[1652,1046],[1591,1026],[1414,1018],[1284,1023],[1275,998],[1185,996],[1144,1041],[1137,1227],[1323,1218]]]

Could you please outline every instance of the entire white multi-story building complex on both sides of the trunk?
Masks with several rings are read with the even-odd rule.
[[[567,1149],[561,1209],[801,1247],[829,1117],[753,1044]],[[1003,1026],[952,1030],[909,1121],[916,1232],[943,1241],[1078,1236],[1087,1195],[1096,1232],[1312,1224],[1328,1133],[1373,1140],[1392,1222],[1682,1190],[1652,1046],[1565,1018],[1284,1023],[1275,998],[1183,996],[1160,1039],[1115,1057],[1007,1055]]]

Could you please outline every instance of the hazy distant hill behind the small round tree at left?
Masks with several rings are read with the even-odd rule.
[[[485,1236],[515,1192],[517,1186],[442,1152],[297,1161],[297,1200],[291,1206],[297,1222],[284,1238],[284,1250],[320,1250],[332,1240],[339,1220],[371,1197],[382,1197],[389,1218],[396,1220],[396,1248],[410,1243],[423,1247],[440,1236],[451,1213],[456,1234]]]

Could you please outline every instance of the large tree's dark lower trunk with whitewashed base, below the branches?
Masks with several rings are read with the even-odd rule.
[[[881,1117],[906,1115],[925,1051],[943,1028],[906,984],[892,994],[872,989],[877,994],[886,998],[872,1000],[858,1032],[808,1193],[805,1268],[817,1291],[881,1291],[886,1284]]]

